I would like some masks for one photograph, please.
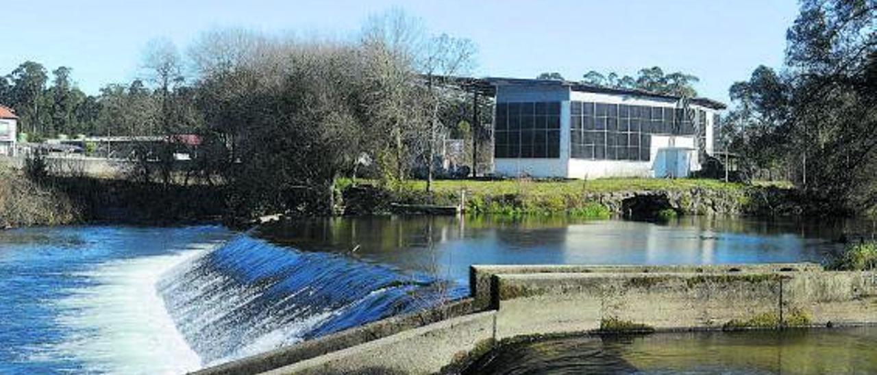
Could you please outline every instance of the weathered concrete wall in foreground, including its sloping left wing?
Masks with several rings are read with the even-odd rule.
[[[394,317],[200,372],[426,374],[530,335],[877,324],[877,272],[812,264],[485,265],[470,280],[474,301],[445,320]]]

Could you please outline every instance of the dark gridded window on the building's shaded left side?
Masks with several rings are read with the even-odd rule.
[[[495,118],[496,158],[560,158],[560,102],[496,103]]]

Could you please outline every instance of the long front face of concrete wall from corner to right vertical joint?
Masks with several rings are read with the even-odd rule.
[[[574,331],[721,329],[779,316],[778,273],[496,275],[496,339]]]

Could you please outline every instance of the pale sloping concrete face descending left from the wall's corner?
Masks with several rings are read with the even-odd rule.
[[[489,341],[494,335],[494,315],[488,311],[432,323],[266,373],[435,373]]]

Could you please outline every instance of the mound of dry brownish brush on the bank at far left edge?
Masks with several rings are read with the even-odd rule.
[[[0,166],[0,229],[80,220],[82,209],[60,189]]]

